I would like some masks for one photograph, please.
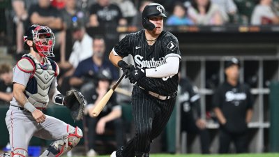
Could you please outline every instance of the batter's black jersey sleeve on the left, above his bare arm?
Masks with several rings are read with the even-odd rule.
[[[131,50],[130,50],[130,36],[125,36],[122,40],[119,41],[117,45],[114,46],[112,52],[114,55],[118,55],[120,57],[127,57]]]

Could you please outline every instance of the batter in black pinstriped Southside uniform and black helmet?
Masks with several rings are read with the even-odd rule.
[[[163,17],[163,6],[147,5],[142,13],[144,30],[128,34],[110,53],[110,61],[136,83],[132,96],[135,137],[112,157],[148,157],[152,140],[160,135],[172,114],[181,53],[177,38],[163,30]],[[122,60],[128,54],[133,56],[135,66]]]

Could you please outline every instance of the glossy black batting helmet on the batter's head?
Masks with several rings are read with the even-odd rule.
[[[155,29],[155,25],[149,22],[149,17],[152,16],[167,17],[165,15],[165,8],[159,3],[149,3],[149,5],[144,7],[142,11],[142,26],[149,31]]]

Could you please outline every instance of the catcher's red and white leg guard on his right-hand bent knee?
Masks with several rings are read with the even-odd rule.
[[[66,135],[62,140],[56,140],[50,144],[50,147],[43,152],[40,157],[58,157],[65,154],[67,151],[70,151],[75,147],[80,138],[82,137],[82,130],[78,127],[74,128],[73,126],[68,125],[67,128],[68,135]]]

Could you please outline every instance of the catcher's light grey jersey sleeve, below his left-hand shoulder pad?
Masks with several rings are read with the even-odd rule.
[[[32,73],[25,73],[24,71],[20,70],[17,66],[13,68],[13,83],[18,83],[27,87],[27,83],[29,78],[31,77]]]

